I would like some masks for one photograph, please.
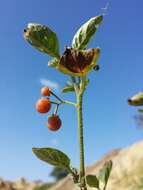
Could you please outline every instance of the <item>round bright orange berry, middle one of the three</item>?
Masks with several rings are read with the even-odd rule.
[[[49,99],[39,99],[36,102],[36,110],[39,113],[47,113],[51,109],[51,102]]]

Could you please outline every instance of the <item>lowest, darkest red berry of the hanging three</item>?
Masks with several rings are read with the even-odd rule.
[[[61,119],[55,114],[52,114],[48,118],[47,126],[51,131],[57,131],[61,127],[61,124],[62,124]]]

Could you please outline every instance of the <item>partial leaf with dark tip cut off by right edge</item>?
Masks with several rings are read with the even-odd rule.
[[[132,96],[128,99],[128,104],[131,106],[143,106],[143,92]]]

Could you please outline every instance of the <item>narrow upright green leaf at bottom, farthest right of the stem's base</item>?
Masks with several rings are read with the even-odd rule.
[[[106,162],[103,168],[99,171],[98,179],[100,181],[100,185],[103,190],[106,189],[106,185],[107,185],[111,170],[112,170],[112,161],[110,160]]]

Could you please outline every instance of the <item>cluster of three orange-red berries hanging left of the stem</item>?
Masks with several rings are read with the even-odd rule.
[[[43,87],[41,89],[41,95],[44,96],[44,98],[41,98],[36,102],[37,112],[41,114],[45,114],[50,111],[52,102],[50,101],[49,97],[51,94],[54,95],[54,93],[48,87]],[[58,103],[57,103],[55,113],[50,115],[48,118],[47,127],[51,131],[57,131],[61,127],[61,124],[62,124],[61,119],[57,115],[57,108],[58,108]]]

